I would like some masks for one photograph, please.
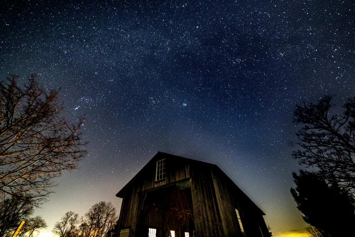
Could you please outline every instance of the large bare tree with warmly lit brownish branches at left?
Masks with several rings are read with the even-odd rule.
[[[16,76],[0,82],[0,199],[17,196],[37,205],[52,179],[85,155],[80,127],[62,117],[58,91],[44,90],[34,76],[19,86]]]

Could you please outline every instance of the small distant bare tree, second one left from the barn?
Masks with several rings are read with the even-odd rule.
[[[61,221],[56,222],[52,233],[59,237],[73,237],[77,236],[78,229],[76,225],[79,223],[78,214],[68,211],[61,218]]]

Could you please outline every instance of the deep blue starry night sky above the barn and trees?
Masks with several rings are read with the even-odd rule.
[[[297,103],[355,95],[352,0],[1,1],[0,77],[35,73],[86,117],[80,168],[35,211],[49,227],[115,194],[158,151],[217,164],[302,236],[289,192]],[[340,107],[340,106],[339,106]]]

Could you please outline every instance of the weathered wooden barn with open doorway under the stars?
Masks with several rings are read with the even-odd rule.
[[[120,237],[269,237],[258,208],[217,166],[158,152],[117,194]]]

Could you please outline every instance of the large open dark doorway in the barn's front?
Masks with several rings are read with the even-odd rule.
[[[195,224],[188,184],[185,181],[144,192],[135,236],[193,237]]]

